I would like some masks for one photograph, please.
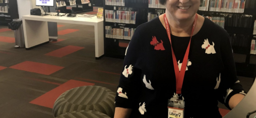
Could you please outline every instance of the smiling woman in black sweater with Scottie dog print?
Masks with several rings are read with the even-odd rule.
[[[228,33],[196,14],[200,0],[160,3],[166,6],[166,14],[139,26],[127,48],[114,117],[167,117],[173,93],[184,98],[184,117],[222,117],[218,101],[232,109],[245,95]]]

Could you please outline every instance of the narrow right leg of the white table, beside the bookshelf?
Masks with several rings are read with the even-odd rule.
[[[95,57],[100,59],[104,55],[104,28],[103,22],[94,26],[95,34]]]

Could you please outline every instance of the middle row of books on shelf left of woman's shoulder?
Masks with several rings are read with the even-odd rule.
[[[136,24],[135,11],[105,10],[106,22]]]

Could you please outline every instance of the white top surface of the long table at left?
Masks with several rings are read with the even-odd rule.
[[[56,15],[57,13],[48,13],[51,15]],[[60,14],[63,15],[63,14]],[[96,16],[91,18],[84,17],[67,17],[67,16],[35,16],[35,15],[25,15],[22,16],[24,20],[34,20],[34,21],[46,21],[46,22],[58,22],[58,23],[71,23],[71,24],[82,24],[82,25],[96,25],[103,22],[103,19],[98,19]]]

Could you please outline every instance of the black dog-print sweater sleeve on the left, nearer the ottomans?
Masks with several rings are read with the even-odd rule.
[[[141,77],[141,39],[139,27],[136,29],[132,40],[125,52],[123,69],[117,86],[115,106],[134,108],[138,99]]]

